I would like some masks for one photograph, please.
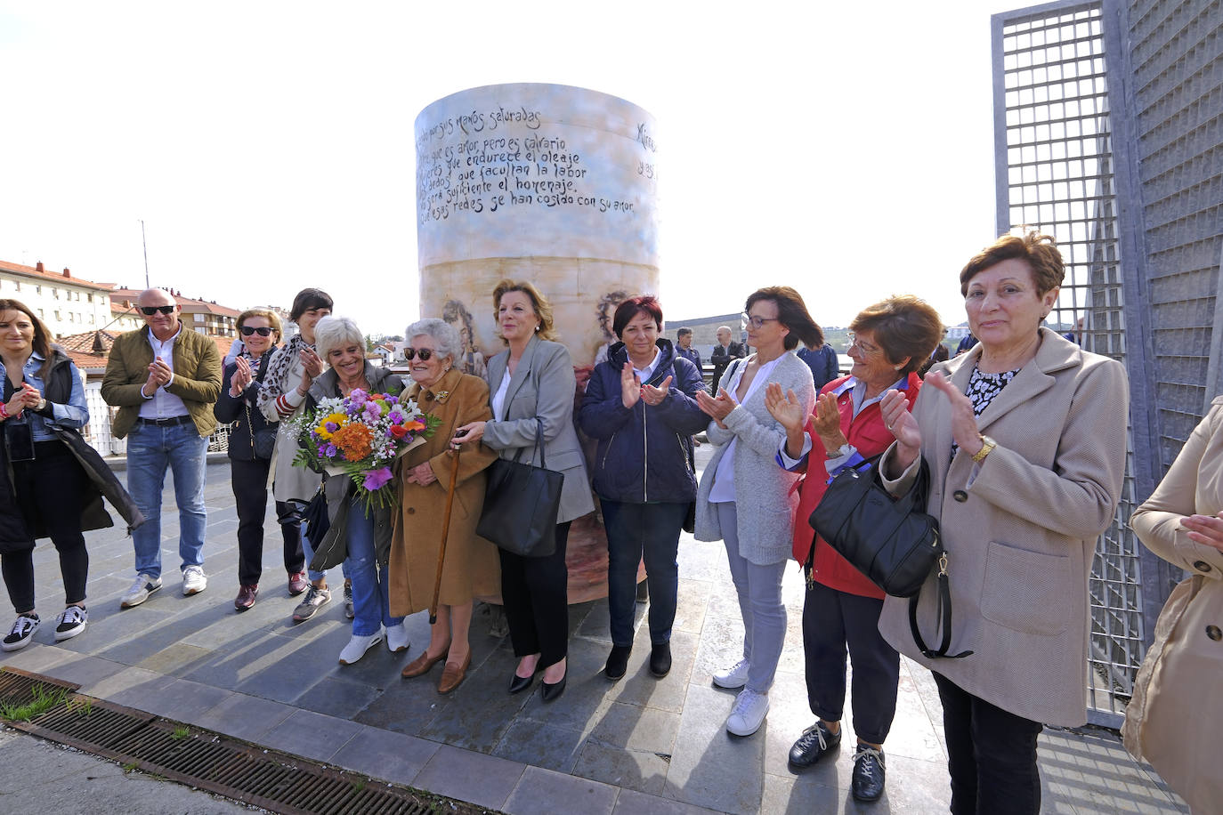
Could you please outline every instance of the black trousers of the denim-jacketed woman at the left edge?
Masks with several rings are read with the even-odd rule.
[[[34,444],[34,461],[12,463],[17,505],[29,534],[42,527],[60,555],[65,604],[84,602],[89,578],[89,552],[81,534],[89,477],[61,441]],[[28,547],[0,556],[0,572],[13,611],[34,607],[34,541]]]

